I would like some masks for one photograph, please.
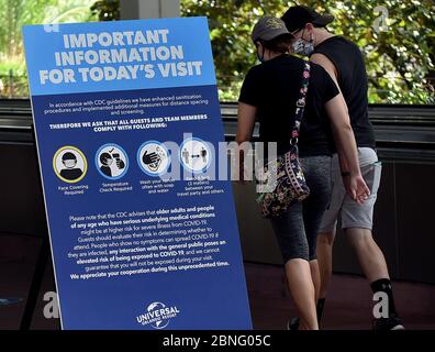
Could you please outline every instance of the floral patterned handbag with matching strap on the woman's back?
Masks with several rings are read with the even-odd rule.
[[[302,85],[297,101],[294,127],[291,132],[291,148],[283,155],[267,163],[257,173],[257,187],[269,187],[270,191],[258,193],[257,202],[261,208],[264,218],[278,217],[288,208],[302,201],[310,195],[305,177],[299,161],[298,138],[305,107],[306,91],[310,80],[310,64],[304,63]],[[258,189],[258,188],[257,188]]]

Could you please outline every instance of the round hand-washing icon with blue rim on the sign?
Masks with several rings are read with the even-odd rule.
[[[160,142],[145,142],[137,152],[137,163],[145,174],[149,176],[160,176],[165,174],[169,167],[169,152]]]

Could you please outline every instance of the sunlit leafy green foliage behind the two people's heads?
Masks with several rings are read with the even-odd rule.
[[[377,103],[435,103],[433,81],[435,3],[431,0],[280,1],[181,0],[183,15],[207,15],[222,100],[236,100],[241,81],[255,65],[250,31],[264,14],[282,15],[290,6],[306,4],[336,20],[328,30],[354,41],[366,57],[369,100]],[[377,33],[377,6],[389,11],[387,31]]]

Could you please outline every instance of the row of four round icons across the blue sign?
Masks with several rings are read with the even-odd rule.
[[[189,139],[182,142],[178,158],[188,172],[204,173],[211,164],[211,151],[204,141]],[[156,177],[167,173],[171,164],[171,154],[164,143],[147,141],[137,150],[136,160],[145,174]],[[108,143],[97,151],[94,164],[101,176],[116,180],[127,173],[130,162],[122,146]],[[63,182],[75,184],[86,176],[88,161],[78,147],[66,145],[55,153],[53,168]]]

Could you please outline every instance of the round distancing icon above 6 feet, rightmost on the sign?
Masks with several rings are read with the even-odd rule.
[[[181,164],[189,172],[194,174],[207,172],[211,164],[211,157],[209,145],[200,139],[188,139],[181,144]]]

